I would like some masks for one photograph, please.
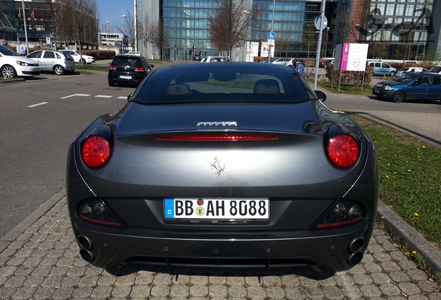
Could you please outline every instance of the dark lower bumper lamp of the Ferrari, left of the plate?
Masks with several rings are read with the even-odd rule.
[[[101,199],[87,199],[80,204],[78,215],[81,219],[95,224],[121,227],[121,222],[116,219],[112,211]]]

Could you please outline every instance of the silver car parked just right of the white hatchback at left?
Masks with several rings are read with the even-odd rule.
[[[67,52],[38,50],[29,53],[27,57],[39,63],[42,71],[54,72],[57,75],[75,72],[74,58]]]

